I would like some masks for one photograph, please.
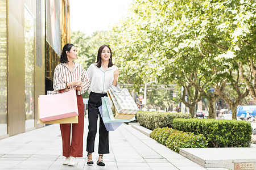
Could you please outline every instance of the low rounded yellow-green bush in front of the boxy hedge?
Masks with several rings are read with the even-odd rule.
[[[180,148],[201,148],[208,145],[203,134],[194,135],[168,127],[154,129],[150,137],[177,153]]]

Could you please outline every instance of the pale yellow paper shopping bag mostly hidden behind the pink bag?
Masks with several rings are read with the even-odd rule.
[[[37,124],[78,124],[78,116],[61,118],[59,120],[43,122],[39,119],[39,97],[38,97],[38,122]]]

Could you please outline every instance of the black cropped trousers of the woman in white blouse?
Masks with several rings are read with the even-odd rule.
[[[89,132],[87,135],[86,151],[89,153],[94,152],[94,141],[97,132],[97,121],[100,111],[98,107],[101,106],[101,97],[108,96],[107,94],[97,94],[90,92],[88,101],[88,120],[89,120]],[[100,129],[99,129],[99,142],[98,142],[98,154],[109,154],[109,131],[106,130],[105,125],[100,116]]]

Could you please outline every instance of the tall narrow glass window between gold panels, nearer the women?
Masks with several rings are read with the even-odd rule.
[[[25,114],[26,129],[35,127],[35,19],[25,6],[24,10],[24,40],[25,40]]]

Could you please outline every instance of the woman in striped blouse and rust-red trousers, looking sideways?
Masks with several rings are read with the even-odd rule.
[[[59,92],[75,90],[77,94],[77,107],[79,110],[78,124],[60,124],[63,143],[63,165],[75,166],[76,157],[82,157],[82,141],[84,134],[84,103],[82,94],[90,86],[88,75],[82,65],[73,62],[77,58],[76,47],[66,44],[60,55],[60,64],[56,66],[53,76],[53,88]],[[60,105],[61,107],[61,105]]]

